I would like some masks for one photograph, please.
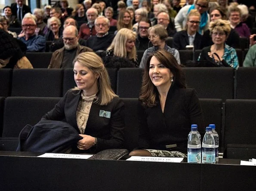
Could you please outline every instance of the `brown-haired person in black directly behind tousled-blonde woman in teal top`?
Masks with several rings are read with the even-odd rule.
[[[217,19],[226,20],[227,17],[225,15],[225,10],[220,7],[213,7],[210,9],[210,18],[211,21],[216,21]],[[228,46],[231,46],[232,48],[240,48],[240,37],[239,34],[231,28],[231,31],[228,35],[228,39],[225,42]],[[204,32],[203,38],[202,38],[202,48],[213,45],[212,37],[210,35],[210,30],[206,30]]]

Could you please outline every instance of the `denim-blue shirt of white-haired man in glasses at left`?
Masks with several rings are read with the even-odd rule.
[[[23,36],[20,39],[27,45],[27,52],[44,52],[46,41],[45,38],[41,35],[33,35],[26,40],[26,37]]]

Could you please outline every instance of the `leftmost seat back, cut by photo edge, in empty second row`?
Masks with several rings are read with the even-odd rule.
[[[0,96],[8,97],[11,94],[12,69],[0,69]]]

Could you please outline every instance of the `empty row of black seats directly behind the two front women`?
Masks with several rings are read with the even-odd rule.
[[[183,68],[199,98],[256,99],[256,68]],[[108,69],[121,98],[138,98],[143,70]],[[72,69],[0,69],[0,96],[62,97],[75,87]]]

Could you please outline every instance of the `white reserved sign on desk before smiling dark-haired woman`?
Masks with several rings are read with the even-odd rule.
[[[173,157],[145,157],[145,156],[131,156],[126,161],[148,161],[148,162],[177,162],[180,163],[183,158]]]

